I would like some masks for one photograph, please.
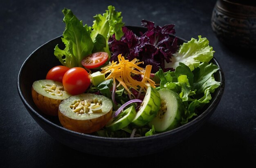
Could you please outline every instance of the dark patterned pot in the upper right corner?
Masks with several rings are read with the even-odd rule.
[[[217,0],[211,26],[218,39],[238,49],[256,50],[256,2]]]

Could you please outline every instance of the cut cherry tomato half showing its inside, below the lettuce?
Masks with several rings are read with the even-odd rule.
[[[85,57],[81,64],[88,69],[91,68],[98,68],[99,66],[103,65],[108,60],[108,53],[107,52],[95,52]]]

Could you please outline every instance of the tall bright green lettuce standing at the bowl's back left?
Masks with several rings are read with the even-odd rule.
[[[92,27],[83,26],[70,9],[64,8],[62,13],[66,26],[61,39],[65,48],[60,49],[57,44],[54,55],[69,68],[82,67],[81,60],[93,52],[104,51],[110,56],[108,38],[114,34],[119,38],[124,35],[121,12],[116,12],[115,7],[108,6],[106,13],[94,16]]]

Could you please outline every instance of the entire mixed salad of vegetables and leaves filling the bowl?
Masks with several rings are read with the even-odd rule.
[[[33,83],[32,98],[67,129],[103,137],[169,131],[200,115],[220,85],[205,37],[179,46],[175,25],[147,20],[145,32],[135,34],[113,6],[92,26],[62,12],[65,48],[53,51],[60,65]]]

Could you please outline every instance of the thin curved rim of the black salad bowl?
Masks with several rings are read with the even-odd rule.
[[[133,27],[133,28],[144,28],[144,27],[140,27],[140,26],[127,26],[127,27]],[[193,120],[191,120],[190,122],[180,126],[180,127],[177,127],[173,130],[170,130],[170,131],[166,131],[166,132],[162,132],[162,133],[157,133],[155,135],[150,135],[150,136],[142,136],[142,137],[101,137],[101,136],[96,136],[96,135],[90,135],[90,134],[84,134],[84,133],[79,133],[79,132],[76,132],[76,131],[71,131],[69,129],[66,129],[64,127],[61,127],[60,125],[58,124],[55,124],[54,122],[50,121],[50,120],[47,120],[46,118],[44,118],[40,113],[38,113],[35,109],[33,109],[29,103],[27,103],[27,100],[25,99],[24,97],[24,94],[22,93],[22,89],[21,89],[21,74],[22,74],[22,71],[25,67],[25,65],[27,64],[27,62],[29,61],[29,59],[31,59],[32,55],[37,51],[39,50],[42,46],[48,44],[49,42],[51,41],[54,41],[58,38],[62,37],[62,35],[58,36],[58,37],[55,37],[54,39],[51,39],[47,42],[45,42],[44,44],[42,44],[41,46],[39,46],[38,48],[36,48],[36,50],[34,50],[26,59],[25,61],[22,63],[21,67],[20,67],[20,70],[18,72],[18,77],[17,77],[17,89],[18,89],[18,94],[22,100],[22,103],[26,106],[26,108],[28,108],[35,116],[37,116],[40,120],[42,120],[43,122],[47,123],[47,124],[50,124],[51,126],[53,127],[56,127],[59,131],[65,131],[66,133],[68,134],[71,134],[71,135],[75,135],[75,136],[79,136],[79,137],[83,137],[83,138],[90,138],[91,140],[103,140],[103,141],[116,141],[116,142],[119,142],[119,141],[144,141],[144,140],[148,140],[148,139],[151,139],[151,138],[161,138],[161,137],[165,137],[167,135],[171,135],[171,134],[174,134],[174,133],[177,133],[177,132],[180,132],[182,130],[185,130],[187,129],[188,127],[190,127],[191,125],[197,123],[197,122],[200,122],[201,120],[203,120],[204,117],[207,117],[208,113],[210,112],[210,109],[214,108],[214,105],[220,101],[221,97],[222,97],[222,94],[224,92],[224,88],[225,88],[225,77],[224,77],[224,73],[223,73],[223,70],[220,66],[220,64],[218,63],[218,61],[215,59],[215,57],[213,57],[213,61],[215,61],[215,65],[218,66],[219,70],[217,72],[219,72],[220,74],[220,86],[219,86],[219,90],[216,94],[216,98],[214,100],[212,100],[211,104],[209,105],[209,107],[207,107],[204,112],[202,112],[199,116],[197,116],[196,118],[194,118]],[[177,36],[175,36],[177,37]],[[187,40],[184,40],[180,37],[177,37],[178,39],[181,39],[182,41],[187,41]],[[31,115],[31,113],[30,113]],[[33,117],[33,116],[32,116]],[[36,121],[38,122],[38,121]],[[47,132],[47,131],[46,131]]]

